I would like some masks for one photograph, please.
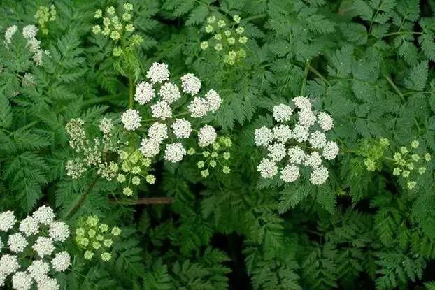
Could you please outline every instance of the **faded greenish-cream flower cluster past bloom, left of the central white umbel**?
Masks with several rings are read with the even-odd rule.
[[[103,136],[88,140],[85,135],[83,119],[71,119],[65,126],[69,135],[69,145],[78,154],[74,159],[66,161],[66,175],[78,179],[88,168],[97,167],[97,173],[106,180],[117,176],[118,166],[114,161],[105,161],[104,153],[116,152],[120,147],[119,140],[113,140],[114,124],[106,117],[100,119],[99,129]]]

